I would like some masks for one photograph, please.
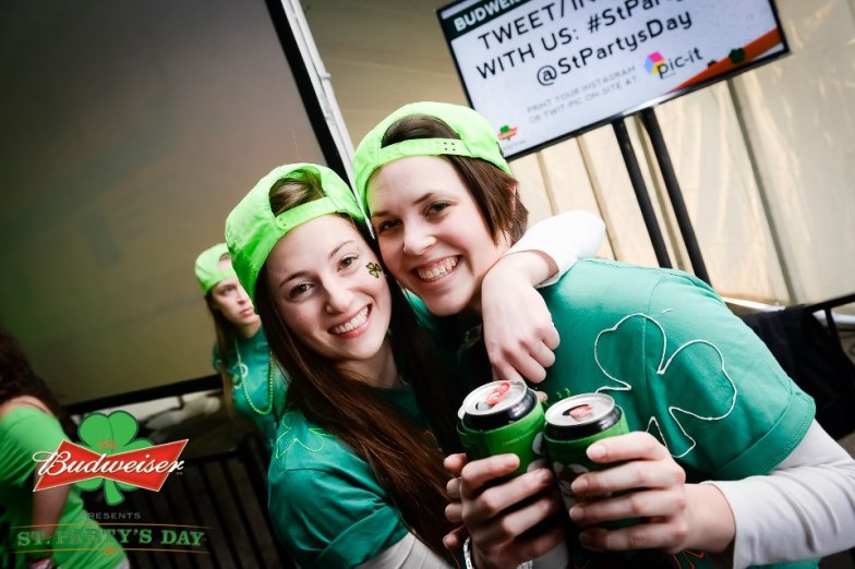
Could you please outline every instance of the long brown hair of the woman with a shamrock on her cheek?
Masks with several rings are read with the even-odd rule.
[[[314,172],[296,170],[275,183],[269,195],[270,208],[278,215],[325,194]],[[357,229],[374,247],[364,228]],[[390,327],[398,370],[413,386],[439,444],[446,451],[458,450],[453,402],[459,394],[432,356],[400,288],[385,278],[392,290]],[[444,555],[442,538],[451,525],[444,514],[448,474],[439,449],[370,386],[339,371],[288,329],[276,310],[266,266],[258,275],[255,299],[270,349],[291,379],[288,407],[299,409],[365,460],[412,533]]]

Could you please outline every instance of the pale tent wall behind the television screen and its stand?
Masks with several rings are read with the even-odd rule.
[[[409,101],[465,104],[435,10],[447,1],[303,0],[358,143]],[[776,0],[792,55],[655,108],[713,287],[770,303],[855,291],[855,17],[851,0]],[[655,156],[627,119],[674,266],[690,270]],[[511,164],[531,220],[581,208],[602,256],[657,259],[611,126]]]

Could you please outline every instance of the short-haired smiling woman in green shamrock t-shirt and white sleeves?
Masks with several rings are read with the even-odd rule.
[[[353,169],[385,266],[434,316],[425,322],[435,343],[473,377],[467,371],[485,361],[468,330],[481,316],[485,267],[526,226],[495,130],[466,107],[408,105],[364,137]],[[438,265],[453,267],[445,281],[425,279]],[[543,298],[571,341],[537,387],[552,400],[609,394],[635,431],[592,445],[589,458],[609,468],[573,482],[586,500],[569,510],[582,544],[576,566],[610,567],[622,558],[593,552],[641,548],[670,566],[746,567],[854,545],[855,461],[711,288],[675,270],[585,259]],[[475,567],[514,567],[565,540],[561,520],[542,523],[561,508],[545,469],[501,484],[515,456],[463,464],[446,460],[460,474],[448,513],[465,522]],[[621,519],[642,522],[600,526]]]

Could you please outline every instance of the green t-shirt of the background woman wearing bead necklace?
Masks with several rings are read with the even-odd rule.
[[[285,409],[288,380],[278,365],[270,367],[270,349],[263,328],[258,328],[250,338],[236,338],[234,349],[234,355],[226,362],[226,371],[233,382],[231,400],[238,413],[249,419],[258,429],[269,455],[276,439],[276,417]],[[214,368],[219,371],[220,354],[216,346],[212,359]]]

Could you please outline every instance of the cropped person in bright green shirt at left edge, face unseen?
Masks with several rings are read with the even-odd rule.
[[[53,452],[74,431],[15,339],[0,331],[0,567],[129,567],[116,540],[89,519],[76,488],[33,492],[39,465],[33,455]],[[92,535],[83,530],[100,537],[86,544],[69,537]]]

